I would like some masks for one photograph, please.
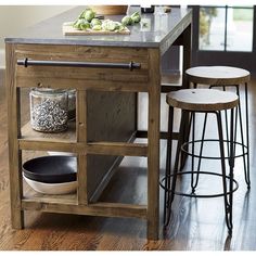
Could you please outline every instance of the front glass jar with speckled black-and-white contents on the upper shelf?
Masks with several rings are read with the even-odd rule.
[[[33,88],[30,99],[30,124],[42,132],[59,132],[67,129],[68,93],[66,90]]]

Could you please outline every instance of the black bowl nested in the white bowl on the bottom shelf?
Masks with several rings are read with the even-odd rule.
[[[76,180],[77,159],[75,156],[51,155],[29,159],[23,164],[26,178],[46,182],[62,183]]]

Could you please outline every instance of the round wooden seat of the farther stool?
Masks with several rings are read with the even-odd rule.
[[[185,71],[190,82],[203,85],[240,85],[249,81],[249,72],[232,66],[196,66]]]

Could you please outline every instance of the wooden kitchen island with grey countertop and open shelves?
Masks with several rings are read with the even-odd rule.
[[[82,9],[5,38],[12,226],[24,227],[24,210],[136,217],[146,220],[148,239],[157,240],[159,139],[166,136],[159,131],[161,92],[166,91],[161,85],[161,60],[171,46],[183,46],[183,69],[190,66],[192,11],[143,14],[146,29],[138,24],[129,27],[130,35],[63,36],[62,24],[74,21]],[[184,79],[182,85],[188,87]],[[29,124],[22,125],[22,91],[35,87],[77,90],[76,121],[66,132],[44,136]],[[138,92],[149,94],[148,132],[137,129]],[[133,143],[143,135],[148,143]],[[77,193],[24,192],[23,151],[75,153]],[[98,200],[124,156],[148,157],[146,205]]]

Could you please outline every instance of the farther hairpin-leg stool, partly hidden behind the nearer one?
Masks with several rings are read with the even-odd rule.
[[[235,154],[236,157],[243,157],[244,166],[244,179],[247,184],[247,189],[251,188],[249,179],[249,141],[248,141],[248,95],[247,95],[247,82],[249,81],[249,72],[231,66],[196,66],[191,67],[185,71],[187,78],[190,82],[193,84],[194,88],[197,87],[197,84],[206,85],[209,88],[222,88],[225,91],[227,87],[234,87],[236,94],[240,98],[239,107],[235,110],[235,131],[234,131],[234,141],[235,145],[241,145],[242,154]],[[245,125],[242,121],[242,107],[241,107],[241,93],[240,87],[244,87],[245,92]],[[226,135],[227,141],[229,141],[228,135],[228,125],[227,125],[227,112],[225,113],[226,117]],[[238,124],[239,119],[239,124]],[[241,142],[236,140],[238,126],[240,126],[241,131]],[[245,130],[244,130],[245,126]],[[244,137],[246,139],[244,139]],[[235,148],[234,148],[235,152]]]

